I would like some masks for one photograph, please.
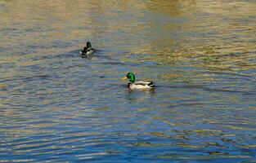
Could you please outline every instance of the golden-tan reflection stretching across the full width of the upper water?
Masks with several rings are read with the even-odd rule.
[[[222,7],[223,4],[225,7]],[[2,11],[1,22],[3,23],[0,29],[9,27],[35,30],[31,36],[27,33],[19,34],[18,39],[20,41],[26,40],[26,42],[39,44],[42,40],[45,42],[74,40],[84,37],[100,37],[101,34],[121,31],[141,37],[155,37],[155,39],[140,40],[137,46],[132,46],[132,52],[154,53],[155,55],[150,56],[150,59],[159,62],[168,62],[168,64],[171,60],[177,64],[187,61],[194,62],[196,57],[200,59],[200,62],[197,62],[200,67],[228,70],[232,64],[236,64],[245,70],[252,68],[252,65],[246,63],[244,58],[232,59],[229,57],[228,59],[231,59],[231,61],[226,62],[225,58],[216,59],[216,57],[229,55],[230,53],[249,55],[248,52],[255,51],[254,42],[247,41],[248,37],[255,33],[255,23],[249,21],[249,16],[256,14],[254,2],[210,2],[210,5],[205,5],[205,2],[194,0],[105,3],[101,1],[85,3],[79,0],[72,2],[11,1],[5,2],[4,6],[10,8],[10,10]],[[223,8],[227,9],[223,10]],[[111,19],[101,22],[98,16],[92,15],[95,11],[106,16],[115,17],[117,20],[119,17],[124,17],[124,19],[118,21]],[[132,13],[132,18],[127,19],[125,17],[123,12],[126,13],[126,11]],[[150,13],[164,15],[166,20],[161,21],[157,17],[146,18]],[[198,20],[197,14],[204,14],[206,21]],[[175,21],[173,17],[176,16],[182,20],[181,23],[172,22]],[[141,18],[143,21],[139,20]],[[22,20],[22,25],[20,20]],[[131,20],[132,24],[130,23]],[[159,24],[155,21],[159,21]],[[83,24],[97,25],[101,28],[77,28],[83,27]],[[51,30],[47,31],[49,29]],[[196,35],[190,36],[191,32],[198,33],[197,36],[199,37]],[[189,33],[189,35],[186,35],[186,33]],[[200,33],[215,33],[214,35],[217,35],[218,38],[214,38],[212,34],[210,36],[213,37],[201,37]],[[174,34],[179,36],[175,37]],[[236,37],[236,35],[242,37]],[[124,37],[128,38],[125,35]],[[229,37],[231,42],[227,42]],[[5,38],[7,38],[7,42],[11,42],[10,39],[17,39],[13,36],[6,36]],[[112,36],[112,42],[115,42],[115,39],[119,39],[119,37]],[[7,42],[1,42],[2,46],[10,47],[10,45],[5,45]],[[79,46],[82,46],[81,43]],[[216,62],[214,62],[215,60]]]

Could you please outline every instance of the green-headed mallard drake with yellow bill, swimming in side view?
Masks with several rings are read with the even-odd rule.
[[[154,81],[135,81],[135,75],[133,73],[127,73],[126,77],[123,77],[122,79],[129,79],[128,88],[132,90],[152,89],[155,86]]]

